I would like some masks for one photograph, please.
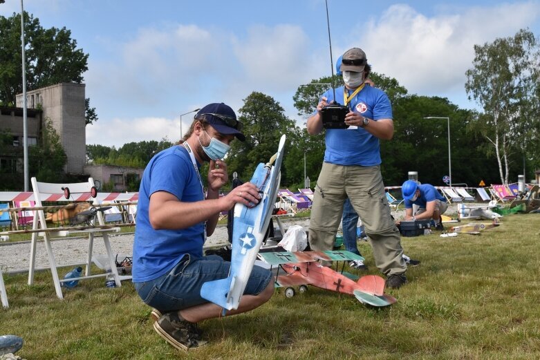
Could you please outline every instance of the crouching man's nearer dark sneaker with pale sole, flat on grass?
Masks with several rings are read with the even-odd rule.
[[[153,323],[153,328],[160,337],[180,350],[198,348],[207,343],[201,340],[201,330],[197,324],[183,319],[178,312],[163,314],[158,321]]]

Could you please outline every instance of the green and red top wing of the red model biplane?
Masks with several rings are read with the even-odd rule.
[[[326,252],[262,252],[259,253],[259,258],[270,265],[281,265],[287,263],[310,263],[318,260],[364,260],[364,258],[360,255],[340,250],[330,250]]]

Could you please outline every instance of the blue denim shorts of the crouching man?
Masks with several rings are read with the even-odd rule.
[[[169,273],[154,280],[134,283],[135,290],[145,304],[160,312],[182,310],[207,303],[201,297],[201,287],[207,281],[226,278],[231,263],[220,256],[198,258],[185,255]],[[245,295],[257,295],[270,283],[272,274],[268,269],[255,265],[245,286]]]

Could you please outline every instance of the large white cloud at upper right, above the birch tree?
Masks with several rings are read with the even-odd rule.
[[[426,17],[407,5],[391,6],[362,26],[362,47],[375,71],[395,77],[411,93],[464,93],[474,45],[513,36],[540,15],[537,2],[461,10]]]

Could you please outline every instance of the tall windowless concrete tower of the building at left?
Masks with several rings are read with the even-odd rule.
[[[26,105],[29,111],[41,109],[41,120],[50,119],[60,137],[60,142],[68,157],[64,171],[77,175],[83,173],[83,167],[86,164],[84,100],[85,84],[61,83],[26,92]],[[23,95],[19,94],[17,108],[22,106]],[[22,126],[22,115],[20,122]],[[30,133],[30,126],[28,129]],[[22,146],[22,140],[20,144]]]

